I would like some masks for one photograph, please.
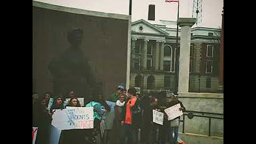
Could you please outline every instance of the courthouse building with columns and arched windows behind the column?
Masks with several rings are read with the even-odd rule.
[[[141,19],[132,22],[131,31],[130,86],[145,91],[174,91],[176,22]],[[179,27],[178,46],[180,32]],[[189,92],[220,92],[220,34],[221,28],[191,28]]]

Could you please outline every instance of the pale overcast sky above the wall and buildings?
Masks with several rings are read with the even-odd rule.
[[[78,9],[106,13],[129,14],[130,0],[35,0]],[[193,1],[180,0],[179,17],[191,18]],[[199,0],[198,0],[199,1]],[[202,23],[198,26],[220,28],[223,0],[201,0]],[[148,5],[155,4],[155,21],[177,20],[178,3],[166,3],[165,0],[132,0],[132,21],[148,18]],[[194,25],[195,26],[195,25]]]

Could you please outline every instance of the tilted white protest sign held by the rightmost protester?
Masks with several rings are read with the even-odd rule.
[[[168,121],[171,121],[172,119],[183,115],[182,110],[179,110],[179,108],[181,108],[180,103],[164,109],[165,113],[168,116]]]

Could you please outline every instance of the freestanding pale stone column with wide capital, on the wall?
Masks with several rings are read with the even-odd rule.
[[[193,26],[195,22],[196,18],[178,18],[177,21],[178,25],[181,27],[178,92],[188,92],[190,33],[191,26]]]

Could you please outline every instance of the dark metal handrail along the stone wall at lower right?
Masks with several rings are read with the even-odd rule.
[[[180,120],[180,122],[183,122],[182,124],[182,133],[185,133],[185,116],[187,116],[189,119],[192,119],[193,117],[207,117],[209,118],[209,129],[208,129],[208,136],[211,136],[211,119],[223,119],[223,114],[220,113],[210,113],[210,112],[203,112],[203,111],[191,111],[186,110],[183,111],[183,119]]]

